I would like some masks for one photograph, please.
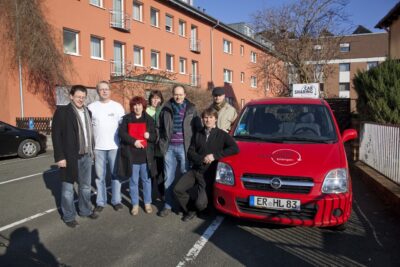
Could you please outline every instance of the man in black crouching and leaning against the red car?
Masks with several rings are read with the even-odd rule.
[[[201,114],[204,128],[197,132],[188,151],[188,158],[193,163],[192,170],[185,173],[174,187],[174,194],[184,210],[183,221],[189,221],[196,215],[195,209],[206,208],[211,198],[217,162],[223,157],[239,153],[233,138],[216,127],[218,112],[208,108]],[[190,203],[189,191],[196,189],[195,205]]]

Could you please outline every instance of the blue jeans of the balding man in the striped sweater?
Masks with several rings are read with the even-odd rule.
[[[174,205],[173,183],[175,182],[175,172],[178,163],[182,175],[187,171],[189,165],[186,159],[185,146],[183,144],[171,144],[168,146],[164,158],[165,209],[171,209]]]

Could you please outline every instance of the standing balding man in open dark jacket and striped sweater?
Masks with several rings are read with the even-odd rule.
[[[201,128],[196,107],[186,99],[186,90],[182,85],[172,89],[173,97],[164,104],[159,118],[159,146],[164,155],[165,205],[159,216],[167,216],[173,206],[171,185],[175,181],[176,167],[180,172],[188,169],[187,151],[194,132]]]

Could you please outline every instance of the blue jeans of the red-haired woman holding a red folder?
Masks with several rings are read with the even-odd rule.
[[[143,202],[151,204],[151,177],[148,175],[147,163],[133,164],[129,179],[132,206],[139,205],[139,176],[143,187]]]

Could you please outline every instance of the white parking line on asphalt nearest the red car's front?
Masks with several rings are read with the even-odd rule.
[[[197,242],[193,245],[193,247],[186,254],[185,258],[176,265],[177,267],[185,266],[187,263],[193,263],[196,259],[197,255],[199,255],[200,251],[206,245],[211,236],[215,233],[218,227],[221,225],[224,220],[223,216],[217,216],[215,220],[207,227],[204,234],[197,240]]]

